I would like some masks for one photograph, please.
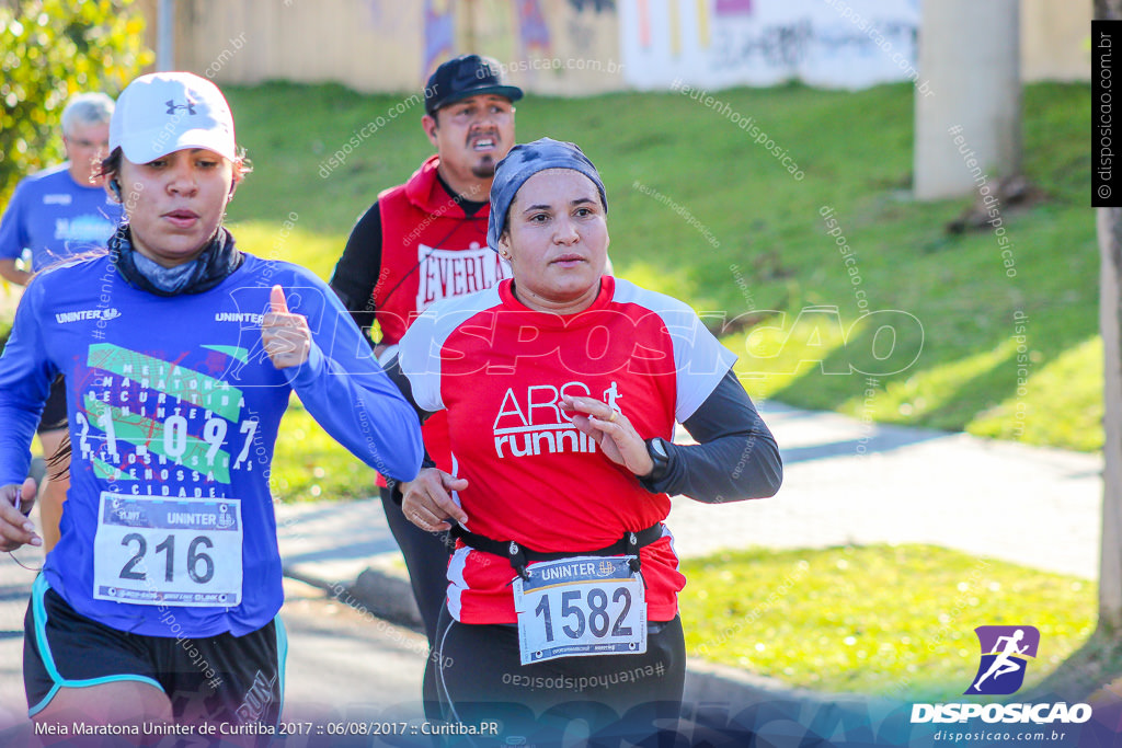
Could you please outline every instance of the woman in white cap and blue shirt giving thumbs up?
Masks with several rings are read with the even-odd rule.
[[[222,225],[247,170],[213,83],[156,73],[121,94],[108,252],[37,275],[0,358],[0,551],[42,543],[29,446],[66,379],[71,489],[35,581],[24,680],[38,722],[275,723],[280,557],[268,489],[296,390],[347,449],[416,475],[413,408],[335,295]]]

